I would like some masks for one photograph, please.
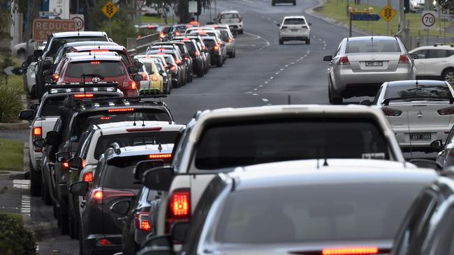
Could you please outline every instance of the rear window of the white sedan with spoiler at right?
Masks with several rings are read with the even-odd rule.
[[[411,86],[388,86],[385,98],[424,98],[443,97],[452,98],[451,91],[446,85],[411,85]]]

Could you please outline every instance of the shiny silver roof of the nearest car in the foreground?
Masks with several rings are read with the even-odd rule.
[[[402,162],[384,160],[294,160],[237,167],[228,176],[235,178],[236,190],[288,185],[431,183],[432,169],[409,169]],[[317,167],[318,166],[318,167]]]

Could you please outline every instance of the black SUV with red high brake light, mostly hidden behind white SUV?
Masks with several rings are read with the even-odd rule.
[[[163,97],[163,96],[156,96]],[[65,107],[59,107],[61,117],[54,130],[47,132],[44,140],[46,153],[41,164],[45,174],[45,185],[54,204],[54,215],[61,228],[61,233],[69,233],[77,238],[77,229],[69,217],[68,186],[66,173],[69,171],[69,160],[77,152],[82,132],[89,125],[119,121],[168,121],[173,117],[163,102],[144,101],[142,98],[94,98],[92,100],[71,100],[68,98]],[[56,156],[54,156],[56,155]]]

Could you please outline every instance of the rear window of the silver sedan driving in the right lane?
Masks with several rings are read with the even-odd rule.
[[[345,53],[400,52],[397,40],[349,40]]]

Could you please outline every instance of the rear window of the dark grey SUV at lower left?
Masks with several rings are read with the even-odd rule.
[[[105,171],[103,187],[140,189],[142,183],[136,183],[137,180],[134,179],[133,169],[141,160],[147,160],[147,157],[120,157],[110,160],[108,167],[103,169]]]

